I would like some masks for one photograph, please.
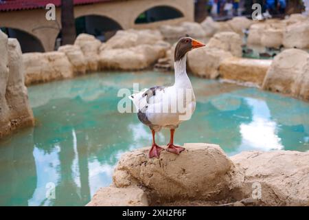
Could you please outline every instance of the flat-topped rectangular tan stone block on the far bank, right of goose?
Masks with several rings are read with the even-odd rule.
[[[271,60],[227,58],[220,64],[220,78],[262,85],[271,63]]]

